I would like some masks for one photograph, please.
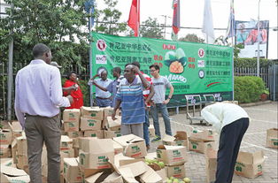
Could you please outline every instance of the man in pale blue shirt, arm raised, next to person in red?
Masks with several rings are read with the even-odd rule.
[[[100,77],[99,79],[96,79]],[[96,79],[96,80],[95,80]],[[107,88],[112,80],[107,78],[107,72],[103,71],[100,75],[97,73],[93,78],[91,78],[88,82],[88,85],[91,86],[93,83],[97,83],[98,86],[102,88]],[[97,99],[97,106],[99,107],[108,107],[112,104],[112,96],[109,91],[103,91],[100,88],[96,88],[96,99]]]

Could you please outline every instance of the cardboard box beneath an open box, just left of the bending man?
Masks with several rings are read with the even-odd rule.
[[[193,141],[189,137],[189,150],[205,154],[208,149],[216,149],[215,141]]]

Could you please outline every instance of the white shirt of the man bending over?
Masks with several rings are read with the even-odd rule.
[[[249,118],[242,107],[234,103],[214,103],[206,106],[201,115],[212,124],[216,132],[220,134],[221,129],[240,118]]]

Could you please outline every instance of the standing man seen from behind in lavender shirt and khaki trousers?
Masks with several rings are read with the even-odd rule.
[[[42,146],[48,154],[48,182],[60,181],[59,107],[68,107],[72,96],[63,97],[61,76],[49,65],[51,51],[38,43],[33,48],[35,60],[17,73],[15,80],[15,113],[27,136],[27,155],[31,182],[42,183]]]

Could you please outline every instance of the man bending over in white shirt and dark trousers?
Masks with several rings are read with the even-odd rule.
[[[220,134],[214,183],[230,183],[240,144],[249,126],[248,114],[234,103],[214,103],[206,106],[201,115]]]

